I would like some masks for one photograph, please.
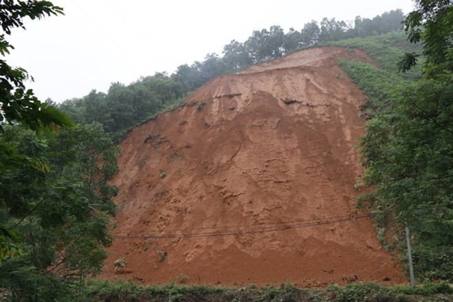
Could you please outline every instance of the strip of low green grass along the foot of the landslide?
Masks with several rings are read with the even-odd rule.
[[[409,286],[380,286],[353,283],[328,288],[297,288],[292,283],[276,286],[183,286],[176,281],[159,286],[143,286],[135,281],[89,280],[84,289],[86,301],[312,301],[312,302],[399,302],[452,301],[453,290],[447,283]]]

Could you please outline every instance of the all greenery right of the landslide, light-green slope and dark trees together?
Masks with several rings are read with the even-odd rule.
[[[373,116],[360,145],[363,181],[374,189],[360,197],[359,205],[378,213],[387,248],[405,251],[404,227],[413,231],[418,279],[452,281],[453,7],[449,1],[422,2],[404,27],[410,41],[423,43],[424,60],[417,49],[404,47],[398,64],[391,64],[388,54],[397,51],[379,46],[392,38],[387,36],[362,46],[355,39],[338,42],[369,52],[384,71],[358,62],[340,65],[369,96],[365,111]],[[402,73],[395,74],[395,68]],[[395,237],[384,240],[391,237],[388,227]]]

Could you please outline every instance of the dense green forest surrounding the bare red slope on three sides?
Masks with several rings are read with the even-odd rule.
[[[106,93],[91,91],[58,105],[40,102],[25,89],[25,69],[0,60],[0,294],[8,289],[12,301],[82,299],[85,278],[100,272],[111,242],[108,218],[115,214],[117,190],[108,181],[119,155],[111,137],[118,142],[129,128],[177,106],[218,75],[315,45],[360,47],[382,65],[340,62],[369,95],[362,181],[376,189],[359,203],[376,213],[382,230],[395,222],[395,246],[402,251],[400,231],[407,226],[413,232],[419,280],[451,282],[453,8],[450,1],[415,2],[408,16],[394,10],[353,22],[324,18],[288,32],[278,25],[256,30],[243,43],[225,45],[222,56],[208,54],[171,75],[113,83]],[[12,28],[25,28],[23,18],[62,13],[48,1],[17,3],[0,6],[1,55],[12,49],[6,40]],[[395,33],[402,22],[423,54],[394,47],[406,39]]]

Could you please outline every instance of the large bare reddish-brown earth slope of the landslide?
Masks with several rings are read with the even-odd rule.
[[[103,277],[405,282],[373,221],[354,209],[364,95],[338,58],[369,60],[335,47],[299,51],[216,78],[132,130],[115,178],[115,234],[125,237]],[[126,270],[115,271],[120,257]]]

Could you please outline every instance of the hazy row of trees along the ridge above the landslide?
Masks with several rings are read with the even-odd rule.
[[[352,27],[345,21],[327,18],[321,23],[306,23],[301,30],[291,28],[286,33],[279,25],[274,25],[269,29],[255,30],[243,43],[232,40],[224,46],[222,56],[207,54],[202,62],[181,65],[171,75],[165,72],[156,73],[128,85],[115,82],[107,93],[93,90],[84,97],[62,102],[58,108],[71,115],[77,123],[100,122],[104,125],[104,130],[111,133],[115,141],[119,141],[128,129],[171,106],[181,104],[191,91],[218,75],[236,73],[252,65],[281,58],[297,49],[332,41],[340,43],[339,40],[356,37],[357,41],[361,41],[361,45],[369,41],[370,47],[367,50],[373,49],[376,56],[396,60],[404,54],[404,49],[397,45],[408,47],[408,44],[404,43],[404,34],[394,34],[398,38],[389,39],[387,44],[395,44],[395,47],[391,47],[392,53],[382,50],[388,45],[385,38],[379,36],[400,30],[403,19],[402,10],[392,10],[373,19],[358,16]],[[363,40],[369,36],[375,38]],[[353,40],[350,43],[351,47],[355,47]],[[377,49],[381,49],[382,53]],[[389,71],[394,71],[391,65],[392,63],[388,62]]]

